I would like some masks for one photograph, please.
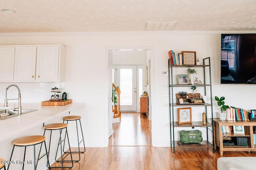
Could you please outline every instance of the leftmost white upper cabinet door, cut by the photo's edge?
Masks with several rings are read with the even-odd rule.
[[[15,47],[0,47],[0,81],[13,81]]]

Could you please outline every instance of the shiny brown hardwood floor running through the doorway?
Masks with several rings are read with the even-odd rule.
[[[127,120],[126,120],[127,116]],[[115,125],[111,145],[102,148],[86,148],[86,152],[81,154],[81,160],[74,162],[72,170],[216,170],[217,159],[220,158],[218,150],[212,152],[212,148],[191,149],[176,148],[175,154],[170,147],[152,147],[151,133],[144,132],[145,129],[151,129],[149,121],[137,115],[131,118],[129,114],[122,113],[122,123],[133,123],[134,127],[131,132],[122,129],[122,123]],[[128,120],[129,119],[129,120]],[[144,125],[146,123],[148,125]],[[137,127],[137,125],[141,126]],[[118,127],[120,125],[120,127]],[[136,126],[135,126],[136,125]],[[124,125],[126,126],[126,125]],[[147,127],[147,128],[145,128]],[[117,131],[127,133],[127,135],[119,134]],[[148,134],[147,134],[148,133]],[[143,138],[135,139],[140,134]],[[150,136],[150,137],[149,137]],[[124,139],[121,139],[124,138]],[[150,139],[148,139],[150,138]],[[125,142],[128,140],[129,142]],[[149,146],[125,146],[135,144],[147,144]],[[117,146],[123,145],[123,146]],[[74,148],[77,149],[77,148]],[[256,152],[224,152],[224,157],[229,156],[256,156]],[[78,158],[78,154],[72,154],[73,159]],[[66,165],[67,163],[64,163]],[[54,163],[53,166],[59,166]],[[58,169],[57,169],[58,170]]]

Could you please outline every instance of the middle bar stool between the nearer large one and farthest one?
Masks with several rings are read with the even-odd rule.
[[[54,166],[54,167],[48,167],[48,168],[72,168],[73,167],[73,160],[72,160],[72,154],[71,154],[71,150],[70,150],[70,144],[69,144],[69,139],[68,139],[68,131],[67,131],[67,124],[66,123],[53,123],[53,124],[49,124],[49,125],[45,125],[44,126],[44,134],[45,134],[45,132],[46,132],[46,130],[50,130],[50,141],[49,141],[49,148],[48,148],[48,151],[49,151],[49,155],[50,155],[50,145],[51,145],[51,139],[52,139],[52,130],[59,130],[60,131],[60,138],[59,138],[59,142],[58,142],[58,147],[57,147],[57,150],[56,150],[56,155],[55,155],[55,160],[56,160],[56,162],[61,162],[61,166],[59,166],[59,167],[56,167],[56,166]],[[63,129],[65,129],[66,130],[66,132],[65,132],[65,138],[66,138],[66,136],[67,136],[67,139],[68,139],[68,148],[69,148],[69,151],[70,152],[66,152],[66,153],[68,153],[66,156],[62,156],[62,154],[64,153],[64,152],[62,152],[62,142],[64,141],[64,140],[62,140],[62,138],[61,138],[61,134],[62,134],[62,130]],[[61,157],[61,160],[57,160],[57,153],[58,153],[58,148],[59,148],[59,146],[60,146],[60,157]],[[63,146],[63,150],[64,150],[64,146]],[[70,154],[70,157],[71,157],[71,160],[64,160],[68,155]],[[72,163],[72,166],[63,166],[63,163],[64,162],[71,162]]]

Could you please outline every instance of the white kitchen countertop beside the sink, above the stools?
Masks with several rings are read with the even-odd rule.
[[[71,103],[65,106],[41,106],[41,103],[22,103],[22,109],[38,110],[0,120],[0,142],[84,105],[85,103]]]

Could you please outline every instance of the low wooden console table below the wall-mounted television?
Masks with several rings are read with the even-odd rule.
[[[214,118],[214,139],[215,147],[220,149],[220,155],[223,155],[224,151],[256,151],[256,145],[253,142],[253,129],[256,128],[256,121],[221,121]],[[222,133],[222,126],[231,126],[231,132]],[[244,126],[244,133],[234,133],[233,126]],[[248,146],[227,146],[223,145],[224,137],[245,137],[248,139]]]

